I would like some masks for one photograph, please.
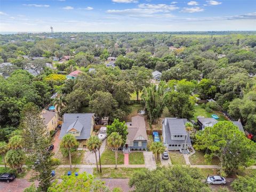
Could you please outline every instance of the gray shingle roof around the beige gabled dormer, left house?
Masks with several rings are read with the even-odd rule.
[[[83,125],[80,136],[76,136],[76,139],[89,139],[91,136],[91,126],[92,126],[92,113],[86,114],[64,114],[63,123],[60,130],[60,139],[67,134],[67,130],[70,125],[72,125],[76,120]],[[77,121],[77,122],[78,122]],[[79,124],[78,123],[78,124]],[[79,129],[80,125],[77,127]]]

